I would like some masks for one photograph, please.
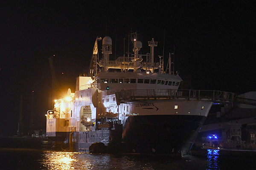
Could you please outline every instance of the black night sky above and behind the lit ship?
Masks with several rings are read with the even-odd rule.
[[[23,132],[45,129],[53,58],[58,96],[87,74],[96,37],[110,36],[123,56],[127,33],[139,33],[141,52],[158,41],[155,58],[167,64],[175,47],[175,71],[192,89],[256,91],[256,13],[250,1],[46,1],[0,2],[0,136],[17,133],[20,96]],[[33,106],[32,106],[33,105]]]

